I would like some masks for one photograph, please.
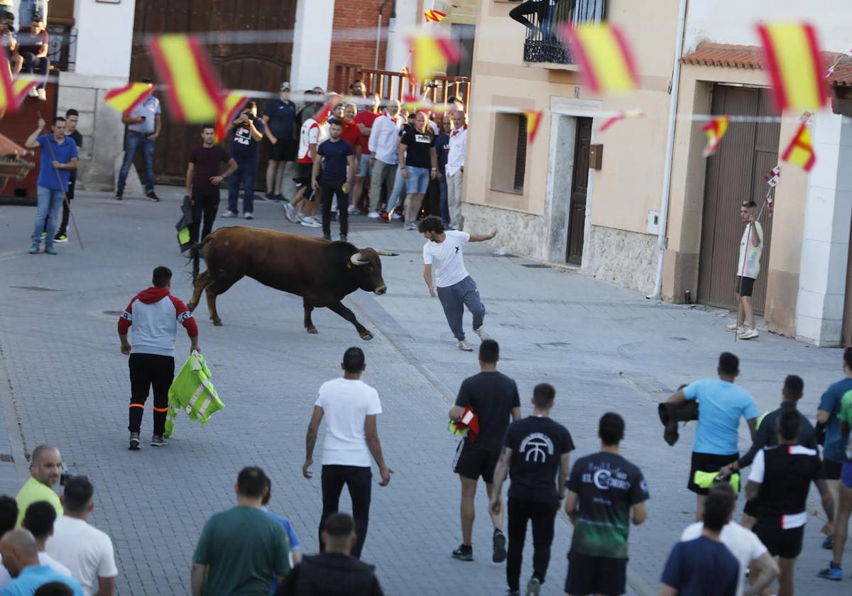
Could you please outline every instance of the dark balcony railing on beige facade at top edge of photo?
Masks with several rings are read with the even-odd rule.
[[[524,62],[573,64],[573,56],[558,35],[561,26],[605,20],[607,0],[544,0],[534,3],[530,10],[531,14],[522,15],[530,24],[524,40]]]

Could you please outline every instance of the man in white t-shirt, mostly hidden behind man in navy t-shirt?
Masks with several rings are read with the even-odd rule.
[[[730,501],[729,517],[733,516],[737,497],[731,485],[727,482],[716,484],[710,492],[711,494],[722,494]],[[695,540],[701,536],[703,528],[702,522],[688,525],[686,530],[683,530],[681,542]],[[720,538],[722,544],[728,547],[728,550],[740,561],[740,586],[737,587],[737,596],[762,593],[763,589],[771,586],[779,576],[780,569],[778,564],[775,563],[775,559],[769,554],[769,549],[763,545],[763,542],[760,542],[760,538],[751,530],[746,530],[732,519],[728,519],[728,523],[722,527]],[[751,587],[746,591],[746,570],[749,569],[749,566],[753,567]]]

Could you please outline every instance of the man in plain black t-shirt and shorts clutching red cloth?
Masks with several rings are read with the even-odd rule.
[[[500,457],[503,436],[509,427],[509,416],[521,418],[521,397],[518,386],[508,376],[497,371],[500,347],[497,341],[484,340],[480,345],[480,374],[469,376],[458,389],[456,404],[450,410],[450,419],[458,421],[464,410],[473,410],[479,421],[479,432],[468,433],[458,443],[454,472],[462,483],[462,544],[452,552],[455,559],[472,561],[474,550],[471,544],[474,528],[474,499],[476,483],[480,476],[485,480],[490,499],[493,494],[494,467]],[[506,559],[506,536],[503,534],[503,514],[491,515],[494,526],[494,563]]]

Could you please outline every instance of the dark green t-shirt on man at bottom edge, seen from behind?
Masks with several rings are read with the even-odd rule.
[[[193,563],[208,565],[207,596],[269,596],[269,578],[291,569],[284,526],[256,507],[233,507],[204,524]]]

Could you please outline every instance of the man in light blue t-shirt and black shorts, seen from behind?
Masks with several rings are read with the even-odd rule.
[[[757,428],[757,406],[754,398],[742,387],[734,385],[740,375],[740,358],[722,352],[717,369],[718,379],[702,379],[678,389],[669,403],[696,399],[699,403],[698,427],[695,428],[692,465],[687,488],[696,496],[695,519],[704,517],[704,500],[710,487],[696,484],[695,473],[717,473],[722,467],[737,461],[740,451],[737,438],[740,433],[740,416],[748,422],[751,442]]]

